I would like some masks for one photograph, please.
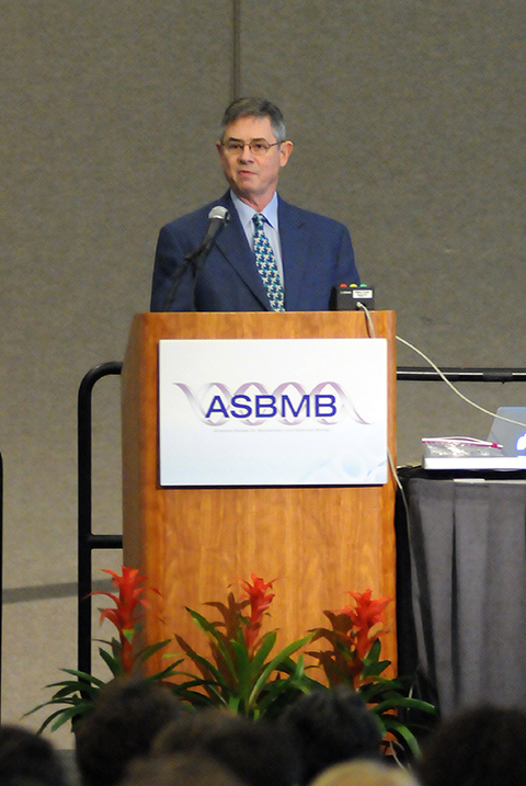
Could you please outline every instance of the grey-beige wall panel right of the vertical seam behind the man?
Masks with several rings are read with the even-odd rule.
[[[243,92],[276,98],[296,143],[282,192],[348,225],[378,307],[438,364],[526,363],[525,33],[519,2],[243,3]],[[489,431],[432,389],[400,390],[402,460],[422,426]]]

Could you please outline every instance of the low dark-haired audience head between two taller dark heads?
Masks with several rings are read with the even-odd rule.
[[[288,740],[264,720],[249,720],[219,709],[181,716],[167,726],[152,748],[155,754],[203,751],[250,786],[293,786],[299,762]]]

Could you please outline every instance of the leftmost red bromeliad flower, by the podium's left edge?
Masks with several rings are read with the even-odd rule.
[[[123,664],[123,671],[125,674],[132,674],[134,671],[134,656],[133,656],[133,639],[136,631],[136,624],[144,614],[144,608],[149,608],[149,602],[142,597],[142,593],[146,589],[159,591],[155,588],[139,586],[142,582],[147,581],[146,576],[139,576],[138,568],[126,568],[122,567],[123,574],[118,576],[113,570],[104,570],[104,573],[110,573],[112,577],[112,583],[118,588],[118,595],[113,592],[104,592],[103,590],[95,590],[90,593],[92,595],[106,595],[111,597],[115,603],[115,608],[101,608],[101,623],[103,619],[108,619],[115,625],[118,630],[118,638],[121,641],[121,660]]]

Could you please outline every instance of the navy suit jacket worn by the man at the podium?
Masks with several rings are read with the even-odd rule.
[[[167,303],[174,275],[196,249],[208,227],[208,213],[224,205],[230,221],[220,230],[196,281],[197,311],[270,311],[271,305],[255,266],[238,212],[227,192],[220,200],[162,227],[156,252],[152,311],[192,309],[192,271],[181,276]],[[327,311],[338,284],[359,284],[347,228],[278,197],[279,239],[287,311]]]

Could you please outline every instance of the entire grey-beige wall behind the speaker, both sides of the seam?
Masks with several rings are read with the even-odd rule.
[[[224,189],[233,5],[0,1],[5,720],[76,662],[77,389],[148,308],[159,227]],[[240,92],[276,101],[295,141],[283,195],[348,225],[378,307],[435,362],[526,365],[524,3],[239,8]],[[118,385],[100,385],[96,527],[118,532]],[[489,430],[436,386],[400,386],[399,412],[403,462],[424,433]]]

